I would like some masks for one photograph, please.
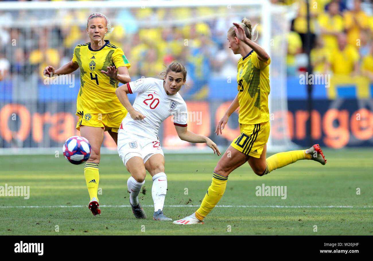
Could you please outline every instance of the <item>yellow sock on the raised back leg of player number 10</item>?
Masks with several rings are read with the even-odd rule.
[[[292,164],[295,161],[311,160],[311,158],[312,155],[305,153],[304,150],[276,153],[266,159],[267,168],[262,175],[268,174],[272,170],[276,170],[276,168],[285,167],[286,165]]]

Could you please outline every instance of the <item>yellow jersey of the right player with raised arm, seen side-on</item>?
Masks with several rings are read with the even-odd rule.
[[[261,61],[254,50],[238,60],[238,102],[241,124],[257,124],[269,121],[268,94],[269,64]]]

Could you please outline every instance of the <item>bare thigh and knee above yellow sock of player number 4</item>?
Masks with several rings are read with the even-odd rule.
[[[104,140],[104,129],[101,127],[92,127],[92,126],[80,126],[80,135],[90,142],[91,145],[91,156],[87,162],[100,162],[100,148]],[[96,163],[98,163],[96,162]]]

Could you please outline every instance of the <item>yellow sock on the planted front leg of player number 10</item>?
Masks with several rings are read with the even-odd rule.
[[[195,212],[195,216],[199,220],[204,219],[219,202],[227,186],[227,180],[228,177],[213,173],[211,186],[207,190],[200,208]]]

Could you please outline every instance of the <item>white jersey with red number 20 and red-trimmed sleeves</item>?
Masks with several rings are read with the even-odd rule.
[[[179,93],[167,95],[163,80],[141,78],[127,83],[129,93],[138,93],[133,104],[135,110],[146,116],[134,120],[129,113],[122,120],[119,129],[150,139],[158,139],[161,123],[173,115],[173,124],[186,127],[186,103]]]

